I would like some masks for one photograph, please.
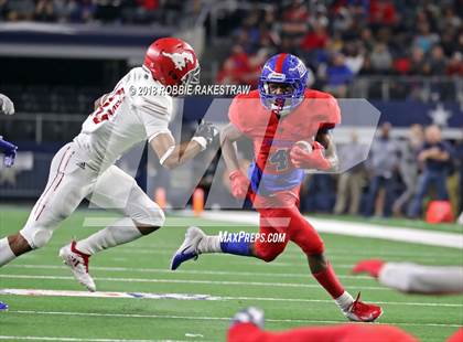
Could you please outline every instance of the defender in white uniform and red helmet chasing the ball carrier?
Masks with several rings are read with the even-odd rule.
[[[84,122],[82,132],[54,157],[46,189],[25,226],[18,234],[0,239],[0,266],[43,247],[60,223],[90,195],[95,204],[117,207],[125,216],[60,250],[76,279],[90,291],[95,291],[96,286],[88,274],[89,256],[161,227],[164,224],[162,210],[114,163],[134,145],[148,140],[161,164],[175,168],[212,142],[218,131],[209,124],[202,124],[191,141],[175,145],[169,130],[172,98],[155,96],[154,92],[143,95],[138,92],[187,84],[197,78],[198,71],[195,52],[187,43],[165,38],[151,44],[143,66],[123,76]]]

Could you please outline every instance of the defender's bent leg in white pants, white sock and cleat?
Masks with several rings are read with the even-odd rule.
[[[165,216],[159,205],[140,189],[134,179],[117,167],[109,168],[100,175],[90,201],[101,207],[115,209],[125,217],[85,239],[64,246],[60,255],[72,268],[77,280],[89,290],[95,290],[94,286],[87,286],[93,284],[88,274],[89,257],[98,252],[151,234],[164,224]],[[67,263],[73,259],[79,259],[83,265]]]

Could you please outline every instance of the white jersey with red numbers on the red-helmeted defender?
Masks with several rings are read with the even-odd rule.
[[[91,113],[74,139],[90,169],[103,172],[134,145],[170,133],[172,97],[143,67],[132,68]]]

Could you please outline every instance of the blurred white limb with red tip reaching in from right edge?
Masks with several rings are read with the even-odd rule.
[[[352,271],[366,272],[380,284],[406,293],[463,293],[462,266],[423,266],[370,259],[359,261]]]

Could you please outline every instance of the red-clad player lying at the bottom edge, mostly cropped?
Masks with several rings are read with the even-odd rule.
[[[308,327],[282,332],[263,330],[263,311],[239,311],[228,329],[227,342],[417,342],[403,330],[391,325],[340,324]]]

